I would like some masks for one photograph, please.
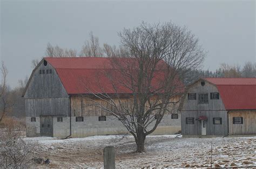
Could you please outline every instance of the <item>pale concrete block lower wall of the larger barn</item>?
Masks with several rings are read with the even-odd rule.
[[[149,126],[149,127],[152,127]],[[126,134],[127,129],[113,116],[106,116],[106,121],[99,121],[98,116],[84,117],[84,121],[76,121],[76,117],[71,117],[72,136],[88,137],[107,134]],[[171,119],[171,115],[165,115],[157,129],[151,135],[174,134],[181,130],[180,114],[178,119]],[[65,138],[70,134],[70,117],[63,117],[62,122],[57,122],[57,117],[53,117],[53,137]]]

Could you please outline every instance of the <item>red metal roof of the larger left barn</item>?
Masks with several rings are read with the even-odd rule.
[[[87,94],[87,93],[132,93],[128,87],[120,85],[118,80],[111,81],[107,73],[115,76],[115,79],[124,78],[111,65],[111,58],[102,57],[80,57],[80,58],[44,58],[57,71],[58,76],[68,94]],[[120,64],[136,60],[134,58],[115,58]],[[119,63],[119,62],[118,62]],[[132,67],[136,67],[132,64]],[[160,62],[159,66],[163,66]],[[136,70],[134,70],[136,72]],[[164,73],[157,73],[152,80],[152,87],[157,87],[164,79]],[[121,81],[119,80],[119,81]],[[130,83],[130,82],[129,82]],[[116,87],[114,89],[113,87]],[[183,85],[180,85],[183,87]]]

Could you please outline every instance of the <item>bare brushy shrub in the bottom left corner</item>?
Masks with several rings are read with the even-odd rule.
[[[10,118],[5,123],[0,138],[0,168],[26,168],[31,164],[35,144],[25,143],[22,139],[24,130],[17,120]]]

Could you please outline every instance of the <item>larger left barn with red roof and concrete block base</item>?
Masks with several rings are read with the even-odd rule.
[[[92,91],[100,92],[103,87],[105,93],[113,92],[109,79],[100,72],[110,69],[108,62],[110,58],[43,58],[23,93],[27,136],[66,138],[127,133],[116,117],[91,104]],[[121,92],[124,101],[131,94]],[[181,130],[179,98],[173,97],[177,104],[170,106],[152,134],[174,134]]]

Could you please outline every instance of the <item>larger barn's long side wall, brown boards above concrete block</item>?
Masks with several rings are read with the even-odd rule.
[[[125,134],[127,129],[121,121],[88,102],[85,96],[71,96],[71,137],[87,137],[106,134]],[[178,99],[178,98],[176,98]],[[124,98],[124,102],[128,99]],[[100,100],[94,99],[95,102]],[[106,116],[106,121],[99,121],[99,116]],[[84,121],[76,121],[76,117],[84,117]],[[153,125],[153,124],[152,124]],[[153,127],[152,125],[149,126]],[[171,119],[171,114],[165,114],[156,131],[152,134],[174,134],[181,130],[180,114],[178,119]],[[63,122],[57,122],[53,117],[53,137],[65,138],[70,133],[70,117],[63,117]]]

